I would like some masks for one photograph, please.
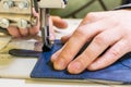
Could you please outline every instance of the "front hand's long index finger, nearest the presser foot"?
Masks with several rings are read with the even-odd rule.
[[[79,27],[58,55],[57,61],[53,62],[55,69],[64,70],[70,61],[72,61],[76,55],[79,50],[84,46],[84,44],[107,27],[107,25],[103,26],[103,24],[104,23],[98,22]]]

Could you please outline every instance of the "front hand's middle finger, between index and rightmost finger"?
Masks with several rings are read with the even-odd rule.
[[[115,30],[116,29],[109,29],[98,34],[85,51],[69,64],[68,71],[72,74],[83,72],[109,46],[121,39],[120,34],[114,34],[117,33]]]

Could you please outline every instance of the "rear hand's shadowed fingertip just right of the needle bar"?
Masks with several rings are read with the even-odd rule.
[[[58,28],[67,28],[68,23],[59,16],[51,16],[52,24]]]

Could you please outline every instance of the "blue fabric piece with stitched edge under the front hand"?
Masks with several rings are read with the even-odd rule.
[[[56,78],[56,79],[99,79],[110,82],[131,83],[131,53],[127,53],[120,60],[112,65],[95,71],[84,71],[81,74],[72,75],[63,71],[56,71],[50,62],[50,57],[53,52],[59,50],[62,44],[59,40],[55,41],[55,45],[49,52],[43,52],[38,62],[36,63],[31,77],[32,78]]]

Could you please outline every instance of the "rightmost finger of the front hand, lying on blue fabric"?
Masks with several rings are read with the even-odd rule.
[[[130,47],[127,40],[122,39],[118,41],[104,55],[99,57],[90,66],[87,66],[87,70],[96,71],[115,63],[123,54],[129,52],[130,48],[127,47]]]

